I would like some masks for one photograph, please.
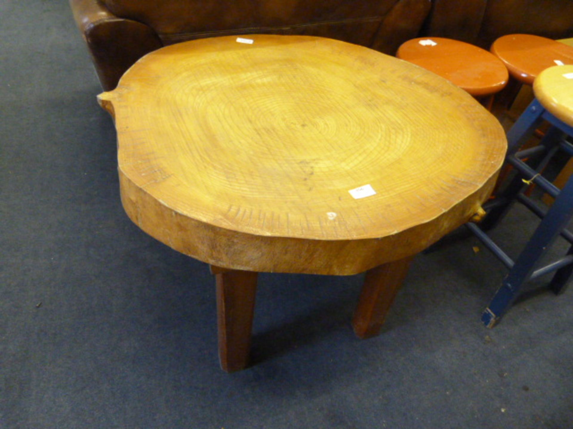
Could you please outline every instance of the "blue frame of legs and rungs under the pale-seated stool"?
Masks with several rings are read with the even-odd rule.
[[[552,127],[545,134],[539,146],[517,152],[543,120],[550,122]],[[564,150],[573,156],[573,145],[564,140],[565,136],[573,136],[573,127],[547,112],[539,101],[533,100],[509,130],[507,136],[508,154],[505,161],[516,169],[516,177],[495,200],[484,205],[488,214],[481,227],[473,223],[466,224],[470,231],[484,243],[485,247],[492,251],[509,269],[501,288],[481,316],[482,322],[488,328],[499,323],[526,281],[556,271],[550,281],[549,288],[558,294],[564,292],[567,281],[573,273],[573,234],[566,229],[571,216],[573,216],[573,177],[567,181],[563,190],[559,190],[539,173],[558,150]],[[528,158],[527,163],[522,161],[524,158]],[[555,198],[555,202],[549,210],[523,193],[523,190],[528,186],[524,185],[523,178],[527,179],[528,184],[535,183]],[[484,230],[487,231],[495,227],[515,201],[521,202],[540,217],[541,223],[517,260],[513,261],[489,238]],[[559,235],[571,244],[567,255],[545,267],[535,269],[537,262]]]

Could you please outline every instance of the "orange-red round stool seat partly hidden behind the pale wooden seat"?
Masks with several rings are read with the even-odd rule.
[[[492,45],[511,76],[527,85],[547,67],[573,64],[573,47],[532,34],[508,34]]]

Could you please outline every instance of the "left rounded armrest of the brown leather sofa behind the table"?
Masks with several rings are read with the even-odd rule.
[[[139,58],[163,46],[151,27],[116,17],[98,0],[69,0],[69,3],[106,91],[114,89]]]

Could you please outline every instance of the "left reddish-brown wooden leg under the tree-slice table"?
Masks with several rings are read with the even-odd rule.
[[[227,372],[249,363],[257,273],[211,266],[217,283],[219,361]]]

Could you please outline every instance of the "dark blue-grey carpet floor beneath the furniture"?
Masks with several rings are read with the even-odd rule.
[[[414,260],[370,340],[362,276],[261,275],[256,365],[222,372],[207,265],[121,208],[66,3],[0,2],[2,429],[573,427],[573,291],[484,328],[505,271],[467,237]],[[534,225],[518,209],[496,237],[515,256]]]

